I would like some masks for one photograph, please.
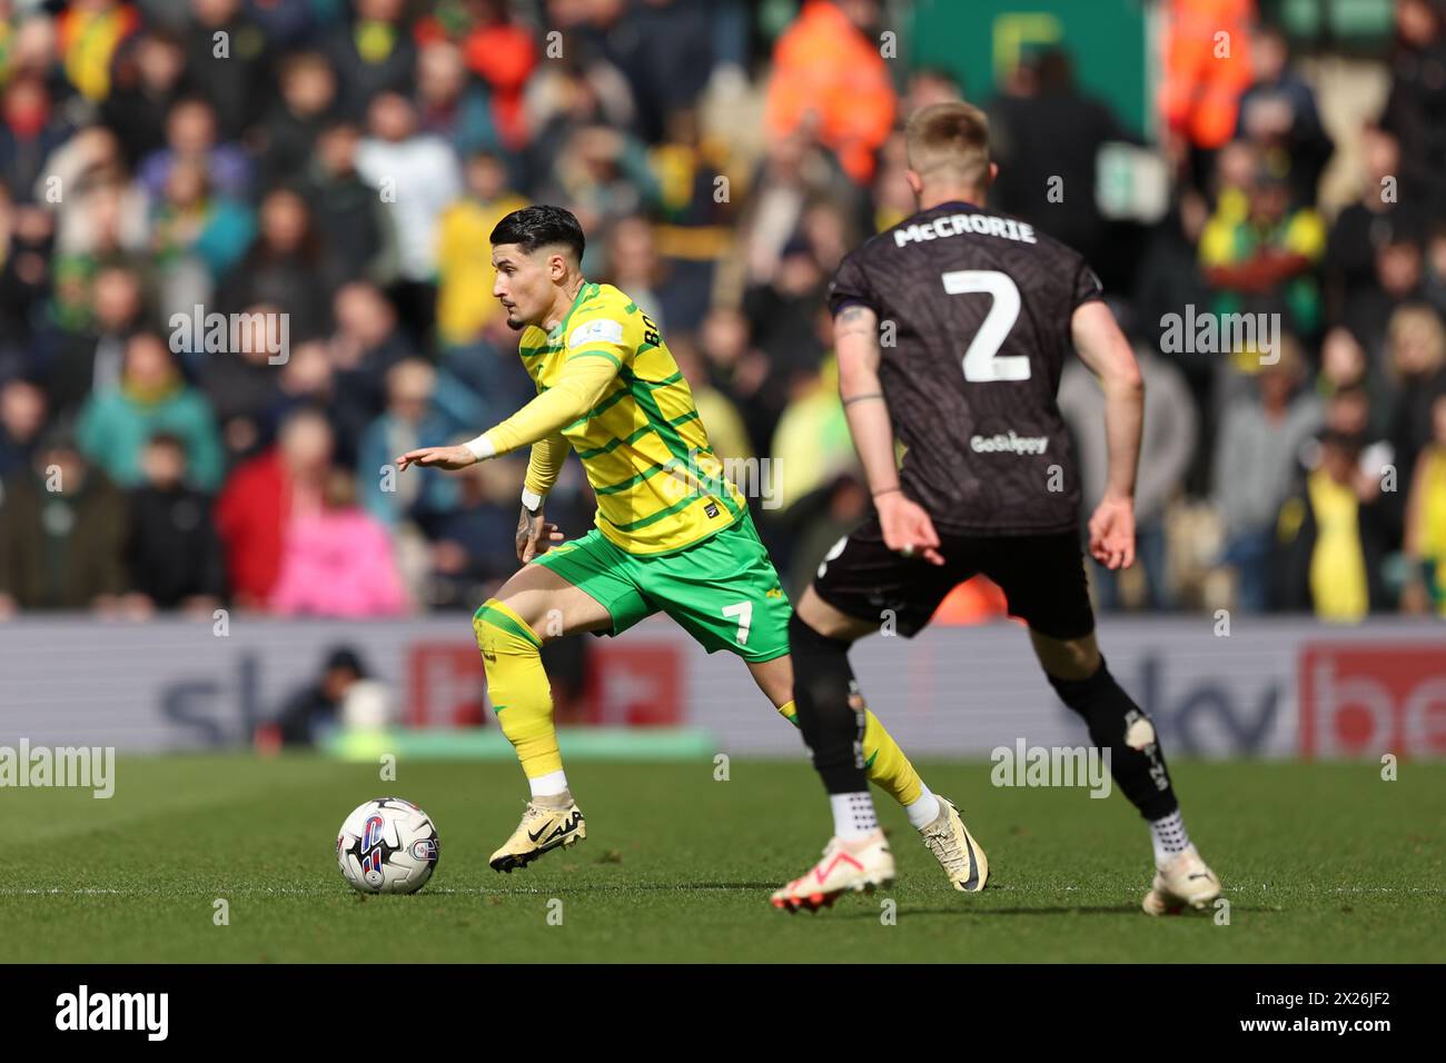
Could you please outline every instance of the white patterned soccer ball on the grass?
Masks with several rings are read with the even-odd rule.
[[[437,869],[437,827],[401,797],[357,807],[337,834],[341,874],[363,894],[415,894]]]

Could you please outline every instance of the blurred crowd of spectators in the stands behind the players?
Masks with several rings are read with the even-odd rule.
[[[1443,612],[1446,10],[1397,0],[1388,100],[1346,145],[1252,0],[1161,4],[1163,217],[1099,205],[1100,149],[1142,130],[1066,49],[975,100],[992,205],[1090,259],[1147,380],[1142,564],[1095,571],[1099,605]],[[487,234],[534,201],[662,325],[714,450],[772,458],[756,518],[797,589],[868,508],[829,279],[912,211],[904,117],[963,95],[881,54],[908,7],[0,0],[0,616],[474,607],[516,568],[525,456],[390,461],[532,396]],[[1325,210],[1346,148],[1358,198]],[[1209,314],[1283,331],[1163,344]],[[1060,406],[1092,505],[1079,364]],[[577,463],[548,512],[591,522]],[[941,619],[1001,609],[972,581]]]

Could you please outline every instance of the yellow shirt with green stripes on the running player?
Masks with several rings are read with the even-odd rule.
[[[674,552],[746,511],[658,327],[623,292],[584,283],[557,328],[522,333],[519,353],[538,393],[574,359],[616,364],[602,399],[561,434],[597,495],[597,528],[619,550]]]

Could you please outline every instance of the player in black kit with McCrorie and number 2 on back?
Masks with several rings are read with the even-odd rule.
[[[1050,684],[1109,751],[1115,784],[1150,824],[1157,871],[1144,910],[1203,908],[1220,882],[1190,843],[1150,719],[1095,644],[1079,477],[1054,401],[1073,347],[1103,386],[1109,440],[1089,551],[1125,568],[1135,555],[1144,418],[1134,351],[1077,253],[983,208],[998,174],[983,113],[924,107],[905,140],[920,210],[849,255],[830,291],[839,392],[875,513],[829,551],[788,629],[798,723],[829,791],[834,836],[772,901],[817,908],[892,881],[865,780],[865,701],[849,646],[889,615],[912,636],[957,583],[983,573],[1030,625]],[[891,343],[881,343],[881,328]],[[951,878],[966,892],[983,889],[983,849],[959,810],[936,800],[953,827],[938,839],[951,846]]]

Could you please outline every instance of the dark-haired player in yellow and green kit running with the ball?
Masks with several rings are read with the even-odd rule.
[[[493,295],[522,333],[519,354],[538,396],[463,445],[396,460],[399,470],[454,470],[532,448],[518,524],[522,568],[473,618],[493,712],[532,793],[490,861],[508,872],[587,830],[562,771],[544,642],[617,635],[664,612],[709,652],[743,658],[778,712],[795,717],[791,610],[746,502],[723,474],[658,327],[623,292],[584,281],[583,247],[577,218],[560,207],[526,207],[496,226]],[[562,542],[544,502],[568,450],[583,461],[597,518],[580,539]],[[866,726],[857,752],[869,778],[905,807],[963,888],[967,862],[943,803],[862,699],[859,712]]]

